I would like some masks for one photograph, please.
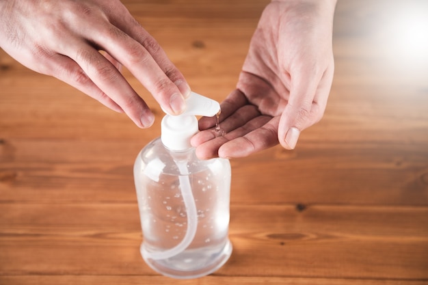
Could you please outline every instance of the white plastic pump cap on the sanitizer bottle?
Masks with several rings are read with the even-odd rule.
[[[196,116],[215,116],[220,111],[217,101],[191,92],[186,99],[186,109],[180,115],[167,115],[161,122],[161,141],[170,150],[191,148],[190,139],[198,133]]]

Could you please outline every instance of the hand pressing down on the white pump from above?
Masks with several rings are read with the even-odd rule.
[[[126,113],[139,127],[155,117],[120,73],[122,64],[163,109],[178,114],[185,107],[183,74],[118,0],[0,1],[0,31],[1,48],[18,62]]]

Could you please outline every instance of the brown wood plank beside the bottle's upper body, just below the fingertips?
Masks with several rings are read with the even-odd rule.
[[[135,202],[142,141],[4,140],[0,201]],[[428,204],[425,144],[302,141],[231,163],[232,204]]]

